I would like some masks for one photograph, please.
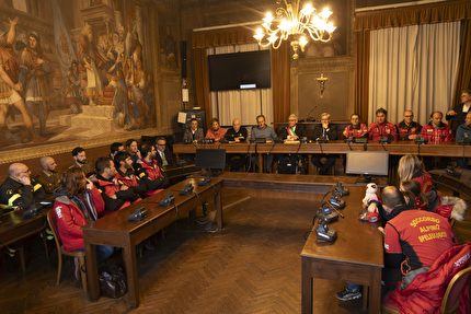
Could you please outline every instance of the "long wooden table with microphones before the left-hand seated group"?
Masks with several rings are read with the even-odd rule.
[[[187,183],[192,183],[198,196],[179,195],[179,190]],[[221,179],[214,178],[212,185],[198,186],[200,179],[193,178],[181,182],[165,190],[146,198],[141,205],[147,209],[147,219],[142,221],[128,221],[127,217],[134,213],[139,203],[134,203],[110,216],[103,217],[91,224],[82,226],[85,244],[87,272],[89,279],[90,298],[96,301],[100,298],[100,287],[96,266],[95,245],[123,247],[123,259],[126,267],[129,302],[133,309],[139,305],[138,276],[136,266],[136,245],[145,241],[172,221],[183,217],[196,208],[198,201],[206,201],[215,197],[217,210],[217,224],[222,229]],[[169,193],[175,196],[175,206],[160,207],[158,202]]]

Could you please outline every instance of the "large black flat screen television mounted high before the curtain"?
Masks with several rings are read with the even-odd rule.
[[[269,89],[269,50],[208,56],[210,91]]]

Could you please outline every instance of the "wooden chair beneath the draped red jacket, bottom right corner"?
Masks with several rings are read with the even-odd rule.
[[[464,268],[457,272],[447,286],[444,299],[441,300],[441,314],[455,314],[460,306],[460,293],[463,290],[464,284],[468,282],[468,278],[471,275],[471,267]],[[389,291],[381,302],[381,313],[383,314],[398,314],[399,306],[392,302],[389,296],[392,291]]]

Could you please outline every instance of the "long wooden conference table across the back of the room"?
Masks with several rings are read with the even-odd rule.
[[[407,153],[423,156],[471,156],[471,146],[460,146],[456,142],[428,142],[416,144],[414,141],[393,141],[391,143],[345,143],[342,140],[328,143],[176,143],[173,152],[176,154],[195,153],[196,149],[225,149],[226,153],[255,153],[259,154],[259,164],[263,164],[263,154],[266,153],[300,153],[308,154],[309,162],[312,154],[346,154],[348,151],[388,151],[391,155],[404,155]],[[311,164],[311,163],[309,163]],[[262,173],[263,167],[259,167]]]

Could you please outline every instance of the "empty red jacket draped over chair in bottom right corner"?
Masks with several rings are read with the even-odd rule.
[[[400,307],[400,313],[439,313],[448,282],[470,265],[471,243],[452,246],[430,266],[428,271],[417,275],[403,290],[394,290],[390,296]],[[460,294],[458,313],[469,312],[469,283]]]

